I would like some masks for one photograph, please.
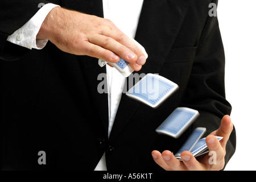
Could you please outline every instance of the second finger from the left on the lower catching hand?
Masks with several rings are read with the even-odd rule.
[[[163,151],[162,158],[164,162],[169,166],[169,168],[173,171],[185,171],[187,168],[185,165],[175,158],[174,154],[171,151]]]

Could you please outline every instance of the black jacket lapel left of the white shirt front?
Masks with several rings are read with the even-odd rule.
[[[67,7],[69,9],[84,12],[90,15],[96,15],[103,17],[103,6],[102,0],[62,0],[61,6]],[[105,127],[106,135],[108,135],[108,94],[98,92],[98,85],[102,84],[102,81],[106,85],[106,67],[101,68],[98,65],[98,59],[89,56],[77,56],[80,62],[80,67],[82,70],[82,75],[84,77],[84,84],[86,88],[89,88],[89,94],[92,96],[92,100],[97,108],[98,114],[100,115],[102,124]],[[98,76],[102,74],[105,77]],[[85,93],[84,93],[85,94]],[[86,102],[86,101],[85,101]],[[88,115],[89,117],[89,115]],[[93,117],[93,116],[92,116]]]

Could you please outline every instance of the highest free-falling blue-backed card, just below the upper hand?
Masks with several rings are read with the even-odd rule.
[[[126,95],[153,108],[171,96],[179,86],[157,74],[148,73],[138,81]]]

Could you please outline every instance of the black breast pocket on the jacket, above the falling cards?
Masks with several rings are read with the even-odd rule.
[[[185,47],[171,49],[165,64],[189,62],[195,59],[197,47]]]

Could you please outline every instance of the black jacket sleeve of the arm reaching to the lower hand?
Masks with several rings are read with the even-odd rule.
[[[217,130],[221,118],[231,113],[232,107],[225,98],[225,55],[217,16],[208,16],[181,106],[199,111],[200,117],[192,129],[206,127],[205,136]],[[225,165],[235,149],[234,129],[226,144]]]

